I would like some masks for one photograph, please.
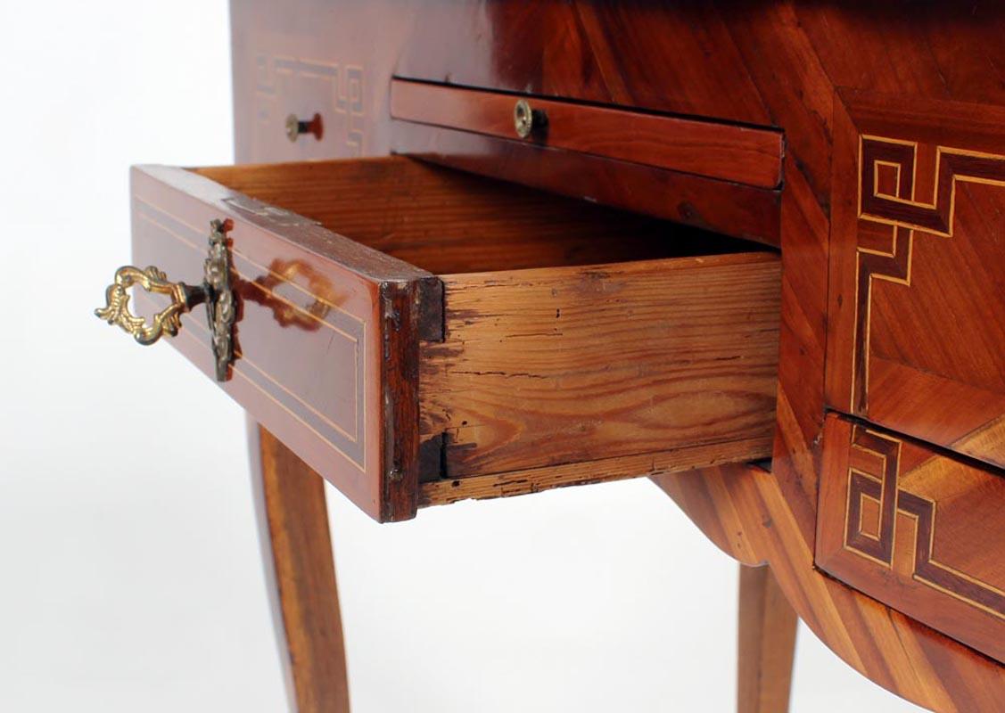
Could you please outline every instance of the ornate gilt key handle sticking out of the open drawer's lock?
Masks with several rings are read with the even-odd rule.
[[[148,292],[171,297],[171,304],[154,315],[152,324],[129,310],[130,297],[126,290],[135,284]],[[202,285],[190,287],[184,282],[169,282],[167,275],[153,265],[145,270],[124,265],[116,270],[115,282],[105,290],[108,303],[95,309],[94,315],[109,324],[118,324],[132,334],[134,339],[147,345],[160,339],[164,332],[176,335],[182,326],[181,315],[205,302],[206,296],[206,289]]]

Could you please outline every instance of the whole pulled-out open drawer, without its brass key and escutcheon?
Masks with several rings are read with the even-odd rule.
[[[774,252],[403,157],[132,192],[134,264],[171,279],[226,221],[222,388],[377,519],[770,455]],[[201,310],[171,341],[216,375]]]

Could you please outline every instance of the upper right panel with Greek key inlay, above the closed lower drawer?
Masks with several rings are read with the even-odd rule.
[[[844,98],[828,404],[1005,466],[1005,109]]]

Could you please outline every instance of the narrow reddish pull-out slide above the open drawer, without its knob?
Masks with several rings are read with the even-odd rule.
[[[390,111],[393,118],[514,139],[517,98],[392,79]],[[784,142],[775,130],[539,97],[529,103],[547,116],[530,138],[544,146],[758,188],[782,181]]]

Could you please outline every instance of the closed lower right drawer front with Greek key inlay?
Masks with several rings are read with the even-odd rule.
[[[830,415],[817,565],[1005,661],[1005,476]]]

